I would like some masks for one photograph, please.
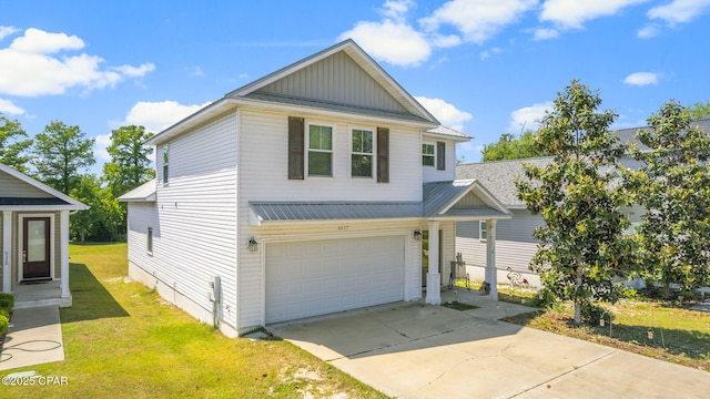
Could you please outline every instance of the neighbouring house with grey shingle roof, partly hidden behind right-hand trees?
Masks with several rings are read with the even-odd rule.
[[[710,132],[710,120],[696,121],[692,126],[698,126]],[[619,142],[630,144],[636,142],[636,133],[639,129],[623,129],[616,132]],[[646,147],[640,143],[639,147]],[[525,176],[524,163],[545,166],[552,162],[552,157],[536,157],[525,160],[484,162],[458,165],[456,178],[477,178],[493,195],[503,202],[513,213],[513,218],[498,222],[496,235],[496,266],[498,279],[506,282],[507,268],[520,273],[528,279],[531,286],[540,285],[539,277],[529,270],[528,265],[537,250],[537,241],[532,238],[535,227],[542,224],[539,215],[532,215],[518,200],[515,181],[518,176]],[[638,170],[639,161],[623,157],[621,164],[626,167]],[[643,207],[635,205],[626,208],[630,216],[631,225],[640,224],[645,213]],[[471,278],[483,279],[486,266],[486,222],[456,224],[456,248],[462,253]]]

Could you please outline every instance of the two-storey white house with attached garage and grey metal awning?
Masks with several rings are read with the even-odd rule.
[[[148,141],[158,178],[121,197],[129,273],[229,336],[417,300],[423,282],[438,304],[456,224],[487,221],[493,270],[496,221],[511,216],[455,181],[468,140],[346,40]]]

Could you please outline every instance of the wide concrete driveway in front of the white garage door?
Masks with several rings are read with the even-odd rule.
[[[529,308],[397,303],[268,326],[398,398],[707,398],[710,374],[497,319]],[[443,293],[443,300],[453,294]]]

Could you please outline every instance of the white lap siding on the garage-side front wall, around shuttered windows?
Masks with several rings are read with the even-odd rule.
[[[306,124],[313,122],[334,126],[333,177],[310,177],[306,166],[303,181],[287,178],[290,115],[305,117]],[[250,226],[250,201],[420,201],[422,198],[418,131],[382,124],[363,125],[348,121],[311,119],[308,115],[300,114],[254,113],[253,111],[242,111],[240,121],[241,164],[247,165],[247,168],[240,173],[240,248],[245,248],[250,236],[253,235],[261,241],[267,234],[264,228]],[[351,129],[371,129],[376,133],[378,126],[389,127],[389,183],[377,183],[375,177],[352,178]],[[413,226],[412,231],[414,228],[416,226]],[[301,226],[297,233],[287,232],[282,234],[317,235],[323,234],[323,226]],[[338,234],[337,226],[328,227],[327,232]],[[240,328],[258,326],[263,323],[262,262],[261,247],[258,253],[240,252]],[[407,282],[412,283],[420,276],[420,272],[407,268],[405,276]],[[420,285],[420,282],[417,284]]]

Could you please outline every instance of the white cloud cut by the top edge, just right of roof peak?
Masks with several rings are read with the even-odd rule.
[[[430,17],[420,19],[419,23],[427,32],[450,24],[463,33],[466,41],[483,43],[536,6],[537,0],[452,0]]]

